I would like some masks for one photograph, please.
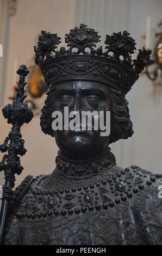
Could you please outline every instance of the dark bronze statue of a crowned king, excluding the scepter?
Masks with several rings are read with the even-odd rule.
[[[124,96],[151,51],[139,50],[132,61],[135,41],[129,33],[107,35],[105,52],[94,49],[99,37],[82,24],[66,34],[70,47],[60,51],[57,34],[42,31],[39,37],[35,62],[49,87],[41,129],[55,136],[60,150],[52,174],[29,175],[14,191],[5,245],[162,244],[161,175],[138,166],[120,168],[109,148],[133,134]],[[99,130],[54,132],[52,112],[65,106],[79,112],[110,110],[110,136],[99,136]]]

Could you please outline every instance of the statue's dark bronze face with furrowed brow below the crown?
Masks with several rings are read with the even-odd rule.
[[[71,111],[110,111],[108,86],[100,82],[70,81],[58,84],[53,94],[53,111],[60,111],[64,119],[64,107]],[[69,119],[70,121],[71,119]],[[86,127],[87,128],[87,127]],[[109,144],[109,136],[101,136],[101,130],[57,130],[55,140],[61,152],[73,159],[86,159],[101,154]]]

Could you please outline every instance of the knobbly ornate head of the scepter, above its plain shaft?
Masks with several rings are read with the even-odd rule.
[[[28,108],[23,100],[27,97],[24,95],[26,92],[24,86],[26,86],[25,78],[29,74],[29,70],[26,65],[21,65],[17,70],[17,74],[20,75],[20,79],[17,82],[18,87],[16,88],[16,96],[13,104],[8,104],[2,109],[4,118],[8,119],[8,123],[12,124],[13,127],[9,135],[5,138],[4,143],[0,145],[0,150],[2,153],[7,152],[3,156],[2,162],[0,162],[0,171],[10,168],[12,172],[20,174],[23,167],[20,164],[20,156],[26,154],[26,149],[24,148],[24,140],[21,138],[20,127],[23,123],[29,123],[33,118],[32,109]],[[8,175],[7,175],[8,176]],[[5,179],[6,179],[5,175]]]

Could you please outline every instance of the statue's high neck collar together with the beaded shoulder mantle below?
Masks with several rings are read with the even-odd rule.
[[[60,156],[56,162],[57,168],[51,175],[38,176],[32,182],[30,192],[16,212],[18,218],[65,216],[114,208],[129,202],[156,181],[155,175],[139,167],[117,167],[109,154],[80,165]],[[27,180],[31,183],[32,178]],[[15,199],[18,194],[20,189],[15,192]]]

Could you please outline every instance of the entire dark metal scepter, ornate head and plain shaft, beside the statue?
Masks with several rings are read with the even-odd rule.
[[[24,95],[25,78],[29,70],[26,65],[21,65],[17,70],[20,75],[18,87],[13,104],[8,104],[2,109],[4,118],[8,119],[8,124],[12,124],[9,135],[5,138],[4,143],[0,145],[2,153],[6,152],[0,162],[0,171],[4,170],[5,184],[3,185],[3,197],[0,216],[0,243],[3,243],[5,222],[7,220],[8,205],[13,198],[13,187],[15,185],[15,174],[20,175],[23,167],[20,164],[20,156],[26,154],[24,140],[20,133],[20,127],[23,123],[29,123],[33,118],[32,109],[23,103],[27,95]],[[18,156],[20,155],[20,156]]]

